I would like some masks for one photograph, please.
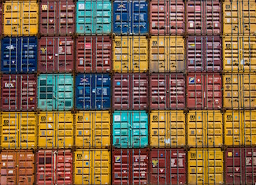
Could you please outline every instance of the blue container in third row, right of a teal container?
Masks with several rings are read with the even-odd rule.
[[[79,74],[76,76],[76,109],[110,109],[111,78],[109,74]]]

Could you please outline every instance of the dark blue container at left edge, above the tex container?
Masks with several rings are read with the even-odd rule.
[[[6,37],[2,39],[1,51],[1,71],[3,73],[36,72],[36,37]]]

